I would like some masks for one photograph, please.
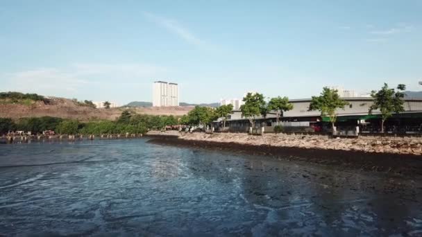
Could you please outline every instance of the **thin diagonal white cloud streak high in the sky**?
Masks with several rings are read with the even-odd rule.
[[[194,44],[196,46],[204,46],[205,42],[196,37],[194,33],[190,30],[185,28],[184,26],[180,25],[180,23],[174,19],[168,19],[165,17],[160,17],[158,15],[154,15],[150,12],[144,12],[144,16],[151,21],[155,22],[155,24],[159,24],[160,26],[167,28],[171,33],[178,35],[178,37],[185,40],[185,42],[189,44]]]

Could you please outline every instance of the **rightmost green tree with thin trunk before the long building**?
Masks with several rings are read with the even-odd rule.
[[[403,98],[405,97],[406,86],[399,84],[397,91],[389,88],[387,83],[379,91],[372,91],[373,104],[369,107],[369,114],[373,110],[379,109],[381,112],[381,132],[384,132],[384,122],[393,115],[393,112],[400,113],[405,111],[403,107]]]

